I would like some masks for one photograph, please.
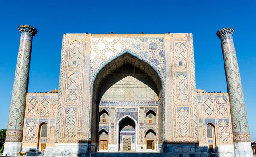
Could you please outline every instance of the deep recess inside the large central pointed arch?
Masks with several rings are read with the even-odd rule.
[[[126,132],[131,136],[130,151],[146,150],[145,134],[148,127],[157,130],[156,137],[161,136],[156,140],[162,140],[161,79],[149,64],[130,53],[124,53],[113,59],[99,71],[92,88],[91,151],[100,150],[99,136],[96,135],[102,128],[109,130],[108,151],[123,151],[120,142],[124,140],[121,136],[125,134],[120,135],[117,122],[125,115],[133,118],[136,123],[140,123],[138,127],[140,134],[138,134],[139,131],[134,132],[135,135],[132,137]],[[148,123],[148,119],[151,123]],[[125,140],[128,140],[126,138],[129,137],[125,137]],[[93,147],[94,143],[95,147]],[[159,144],[162,141],[155,141],[155,143]]]

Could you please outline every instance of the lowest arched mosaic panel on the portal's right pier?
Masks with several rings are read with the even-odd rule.
[[[180,138],[190,137],[189,112],[185,109],[180,109],[177,112],[177,135]]]

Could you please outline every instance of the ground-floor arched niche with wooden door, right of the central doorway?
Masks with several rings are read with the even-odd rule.
[[[145,143],[146,143],[146,150],[156,150],[156,140],[157,140],[157,136],[156,136],[156,132],[152,129],[149,129],[146,132],[145,135]]]

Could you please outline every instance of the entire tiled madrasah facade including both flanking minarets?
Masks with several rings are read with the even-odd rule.
[[[253,156],[233,28],[217,32],[228,93],[196,89],[190,33],[64,34],[59,89],[27,93],[37,30],[18,29],[4,155]]]

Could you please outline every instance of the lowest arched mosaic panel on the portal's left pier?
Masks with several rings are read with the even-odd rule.
[[[76,123],[77,123],[77,113],[75,109],[71,108],[66,112],[65,138],[76,137]]]

